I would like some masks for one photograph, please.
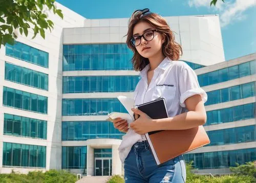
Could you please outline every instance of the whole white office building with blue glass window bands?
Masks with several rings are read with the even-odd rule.
[[[122,174],[124,133],[105,120],[110,112],[126,112],[116,97],[133,98],[140,80],[125,44],[128,18],[85,19],[57,5],[64,19],[49,15],[58,28],[45,40],[22,37],[1,48],[0,173]],[[186,161],[213,174],[254,161],[256,54],[225,61],[216,15],[165,19],[182,44],[181,61],[208,95],[204,127],[211,143],[185,154]]]

